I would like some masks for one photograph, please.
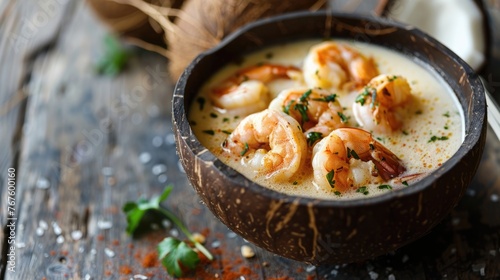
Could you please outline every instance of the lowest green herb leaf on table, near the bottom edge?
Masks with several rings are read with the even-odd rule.
[[[194,269],[200,262],[198,254],[185,242],[167,237],[158,244],[158,257],[170,275],[181,277],[184,269]]]

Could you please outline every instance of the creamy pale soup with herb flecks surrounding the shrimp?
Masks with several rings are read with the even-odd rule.
[[[389,74],[389,77],[404,77],[408,81],[412,102],[403,107],[404,114],[400,116],[400,127],[389,133],[370,130],[374,139],[399,157],[405,168],[403,173],[384,181],[353,185],[348,191],[339,192],[319,187],[314,182],[312,147],[303,151],[307,155],[300,170],[292,177],[278,181],[269,180],[255,168],[251,168],[248,165],[247,155],[224,152],[223,143],[250,112],[244,107],[220,108],[222,106],[211,101],[210,92],[245,67],[271,63],[293,66],[296,77],[266,81],[271,98],[262,105],[263,109],[259,109],[264,110],[283,90],[308,87],[300,73],[311,47],[321,43],[316,40],[263,49],[248,55],[240,64],[227,65],[215,73],[201,88],[189,110],[188,118],[196,137],[221,161],[250,180],[278,192],[319,199],[363,198],[411,187],[423,176],[441,166],[458,150],[464,138],[463,112],[451,88],[437,73],[386,48],[351,41],[335,42],[347,44],[365,57],[373,59],[379,73]],[[353,104],[359,103],[359,100],[356,100],[363,92],[363,87],[324,88],[324,90],[336,94],[336,99],[343,108],[339,116],[342,117],[345,126],[360,127],[353,113]],[[252,107],[257,101],[243,102],[248,102],[249,107]],[[355,165],[352,161],[349,164]],[[358,168],[359,166],[363,168],[362,164],[358,165]]]

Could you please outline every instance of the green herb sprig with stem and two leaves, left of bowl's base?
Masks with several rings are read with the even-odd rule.
[[[172,188],[172,186],[167,186],[159,196],[154,196],[149,200],[141,197],[136,202],[129,201],[125,203],[123,212],[127,215],[127,233],[133,234],[135,232],[147,211],[157,211],[172,221],[207,259],[213,260],[212,254],[194,239],[184,223],[174,213],[160,206],[160,203],[168,198]],[[167,269],[167,272],[176,277],[182,276],[183,269],[194,269],[200,262],[198,254],[189,244],[173,237],[167,237],[161,241],[157,250],[161,263]]]

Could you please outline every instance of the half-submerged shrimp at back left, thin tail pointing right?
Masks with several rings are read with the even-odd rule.
[[[213,88],[210,99],[216,107],[241,109],[245,114],[261,111],[269,105],[271,97],[266,83],[277,79],[296,79],[302,73],[294,66],[263,64],[236,72],[220,86]]]

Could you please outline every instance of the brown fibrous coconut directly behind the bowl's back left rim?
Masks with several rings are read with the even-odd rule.
[[[300,10],[317,10],[326,0],[187,0],[173,32],[167,32],[169,72],[176,81],[201,52],[217,45],[239,27],[257,19]]]

